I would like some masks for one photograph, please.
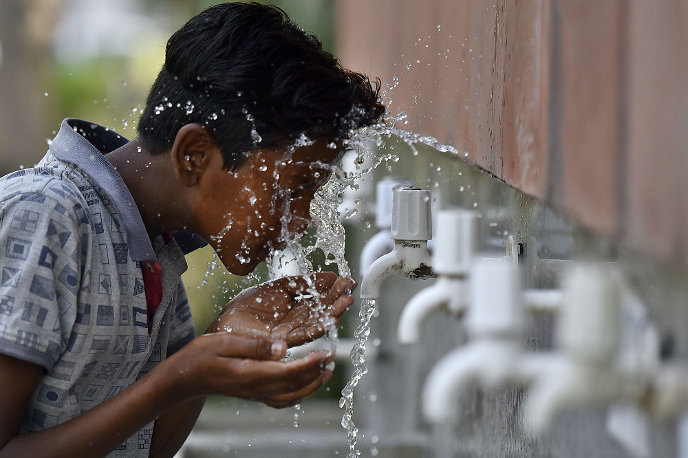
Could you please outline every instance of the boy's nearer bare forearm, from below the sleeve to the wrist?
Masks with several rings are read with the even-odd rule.
[[[16,435],[0,458],[103,457],[138,430],[183,402],[173,368],[160,364],[138,382],[67,422],[28,435]]]

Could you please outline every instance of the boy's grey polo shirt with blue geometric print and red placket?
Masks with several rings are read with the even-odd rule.
[[[194,337],[180,245],[202,241],[151,243],[103,156],[126,142],[65,120],[39,164],[0,179],[0,353],[45,368],[21,433],[100,404]],[[109,456],[147,457],[152,432]]]

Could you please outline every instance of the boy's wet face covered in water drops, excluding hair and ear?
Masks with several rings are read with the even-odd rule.
[[[197,232],[229,272],[249,274],[271,249],[305,234],[310,202],[341,152],[341,146],[315,142],[293,152],[254,151],[234,172],[215,168],[197,211]]]

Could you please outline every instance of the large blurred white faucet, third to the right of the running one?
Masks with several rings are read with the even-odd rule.
[[[564,278],[564,302],[557,321],[553,363],[535,376],[528,425],[546,433],[557,415],[574,405],[605,406],[639,399],[643,380],[616,367],[619,353],[618,281],[607,265],[579,263]]]

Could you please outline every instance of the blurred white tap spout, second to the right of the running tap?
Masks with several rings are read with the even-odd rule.
[[[423,389],[423,413],[433,423],[451,422],[460,394],[480,382],[499,386],[520,382],[522,349],[509,340],[477,340],[455,349],[431,369]]]

